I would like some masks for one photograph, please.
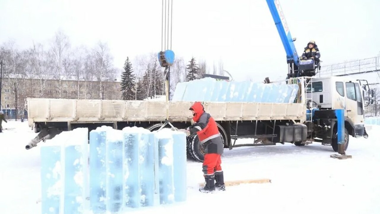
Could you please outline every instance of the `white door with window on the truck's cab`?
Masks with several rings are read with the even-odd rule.
[[[353,125],[364,123],[363,98],[359,83],[346,82],[346,111]]]

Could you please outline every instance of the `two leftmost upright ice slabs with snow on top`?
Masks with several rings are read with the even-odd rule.
[[[87,128],[64,131],[41,147],[43,214],[84,213],[85,178],[88,176],[87,133]]]

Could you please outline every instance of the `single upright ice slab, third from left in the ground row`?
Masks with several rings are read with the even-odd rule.
[[[110,126],[90,131],[90,208],[94,214],[106,211],[106,130]]]

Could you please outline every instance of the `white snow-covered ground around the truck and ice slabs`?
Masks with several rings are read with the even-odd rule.
[[[3,123],[0,133],[0,213],[40,214],[40,147],[25,150],[36,136],[27,122]],[[350,137],[352,159],[330,158],[320,143],[225,150],[225,181],[271,179],[268,184],[226,187],[200,193],[201,163],[188,161],[187,201],[128,213],[380,213],[380,126],[368,139]],[[244,139],[241,141],[249,141]]]

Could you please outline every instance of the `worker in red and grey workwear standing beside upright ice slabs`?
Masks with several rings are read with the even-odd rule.
[[[199,143],[204,148],[205,153],[202,171],[206,185],[199,191],[212,192],[215,187],[219,190],[225,190],[223,171],[220,166],[223,141],[217,124],[209,113],[204,112],[204,107],[200,102],[195,102],[189,110],[193,113],[194,124],[188,128],[188,134],[198,135]]]

